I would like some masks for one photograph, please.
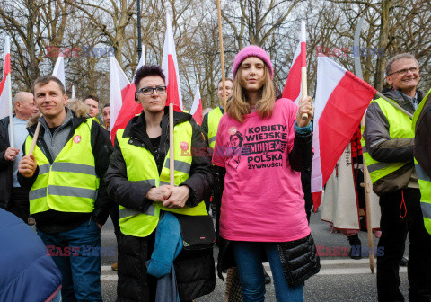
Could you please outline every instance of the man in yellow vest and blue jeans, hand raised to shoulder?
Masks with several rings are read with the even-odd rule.
[[[38,235],[61,271],[63,301],[101,301],[101,226],[111,202],[103,182],[111,144],[108,132],[88,118],[79,102],[66,108],[65,87],[55,76],[31,86],[40,113],[28,128],[18,180],[30,190],[30,213]]]

